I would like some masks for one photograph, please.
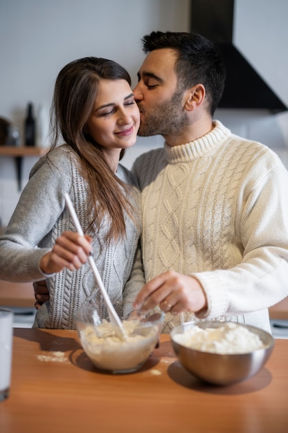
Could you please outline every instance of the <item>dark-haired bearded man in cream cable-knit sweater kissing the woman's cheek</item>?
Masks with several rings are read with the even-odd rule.
[[[213,121],[225,70],[210,42],[152,32],[143,49],[138,135],[165,144],[133,167],[147,282],[134,305],[159,304],[165,333],[201,319],[270,331],[268,308],[288,294],[287,171],[270,149]]]

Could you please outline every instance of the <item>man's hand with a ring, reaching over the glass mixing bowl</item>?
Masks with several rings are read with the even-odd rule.
[[[207,308],[207,300],[197,279],[168,270],[145,284],[133,303],[143,311],[156,305],[165,313],[199,312]]]

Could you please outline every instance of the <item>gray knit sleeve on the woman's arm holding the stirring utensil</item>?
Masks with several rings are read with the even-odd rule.
[[[71,188],[71,160],[55,149],[33,167],[8,227],[0,237],[0,278],[12,282],[42,279],[39,259],[51,248],[51,230]],[[42,248],[39,248],[41,244]]]

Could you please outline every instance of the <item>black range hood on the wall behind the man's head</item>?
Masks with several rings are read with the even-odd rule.
[[[191,0],[190,31],[214,42],[226,65],[226,84],[219,108],[288,108],[233,45],[233,0]]]

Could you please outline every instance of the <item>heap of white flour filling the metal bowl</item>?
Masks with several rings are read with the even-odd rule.
[[[203,329],[193,326],[181,334],[174,335],[173,340],[189,349],[222,354],[249,353],[266,347],[259,335],[233,322],[219,328]]]

